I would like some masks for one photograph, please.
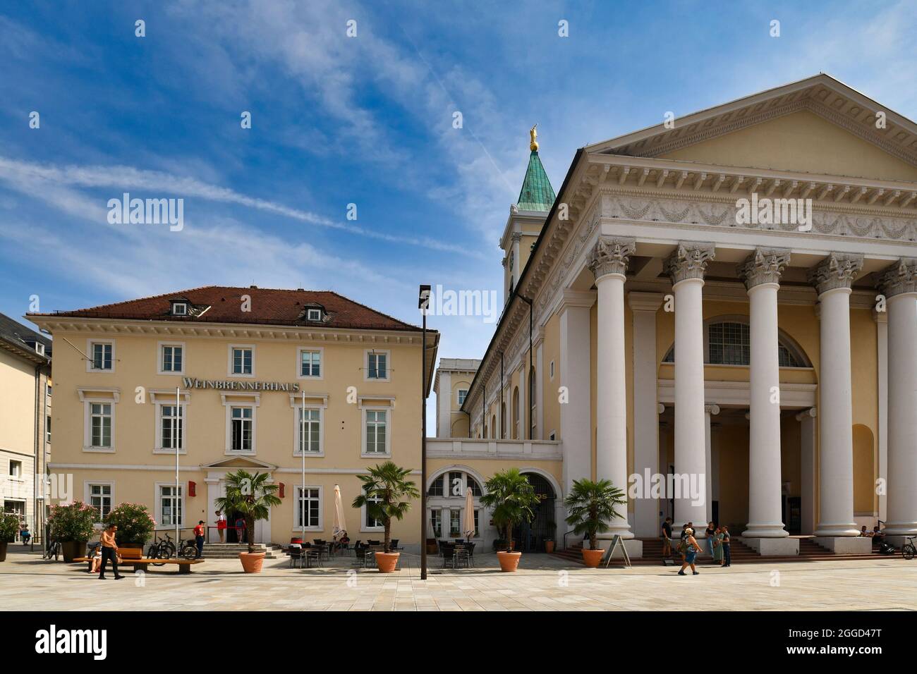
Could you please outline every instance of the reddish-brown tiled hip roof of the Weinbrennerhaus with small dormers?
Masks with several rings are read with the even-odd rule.
[[[250,311],[242,311],[242,295],[251,298]],[[171,315],[171,300],[186,300],[195,307],[188,316]],[[304,309],[321,306],[326,315],[322,324],[308,321]],[[207,308],[209,307],[209,308]],[[370,309],[331,291],[280,290],[275,288],[233,288],[208,285],[203,288],[142,297],[137,300],[103,304],[88,309],[59,311],[50,316],[116,318],[137,321],[177,321],[183,323],[243,323],[271,326],[345,327],[366,330],[420,330],[390,315]],[[430,331],[434,332],[434,331]]]

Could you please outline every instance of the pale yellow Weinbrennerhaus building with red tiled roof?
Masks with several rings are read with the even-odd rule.
[[[242,468],[282,485],[283,504],[256,525],[256,541],[288,543],[303,530],[330,540],[336,484],[348,535],[366,540],[381,527],[350,508],[358,475],[392,459],[419,484],[419,327],[337,293],[255,286],[29,318],[58,347],[61,440],[50,469],[71,474],[74,497],[100,518],[133,502],[160,529],[213,527],[226,473]],[[437,344],[430,331],[427,391]],[[416,547],[419,527],[416,503],[392,537]]]

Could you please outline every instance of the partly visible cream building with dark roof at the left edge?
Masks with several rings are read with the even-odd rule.
[[[35,542],[47,517],[51,340],[0,314],[0,508],[16,513]]]

